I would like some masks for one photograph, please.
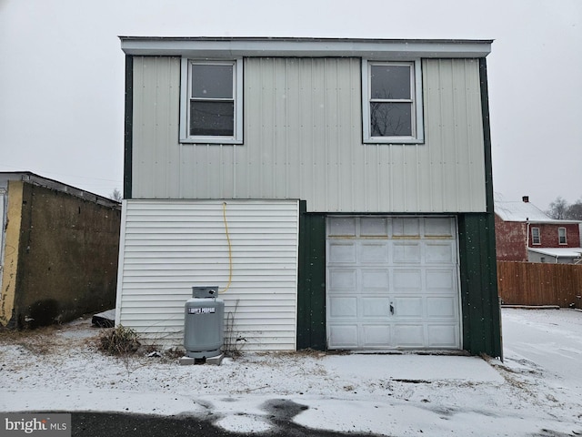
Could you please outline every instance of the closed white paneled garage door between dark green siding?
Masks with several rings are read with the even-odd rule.
[[[329,349],[460,349],[454,218],[329,217]]]

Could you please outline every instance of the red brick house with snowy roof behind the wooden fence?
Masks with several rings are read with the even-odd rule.
[[[525,196],[495,202],[497,259],[572,264],[582,259],[580,221],[550,219]]]

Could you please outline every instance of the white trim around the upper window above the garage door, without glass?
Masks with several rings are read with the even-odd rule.
[[[412,135],[404,137],[372,137],[371,120],[370,120],[370,101],[372,91],[372,81],[370,78],[372,66],[393,65],[393,66],[412,66],[411,72],[411,97],[413,114]],[[420,58],[382,61],[374,59],[362,59],[362,135],[365,144],[422,144],[425,142],[424,119],[423,119],[423,100],[422,100],[422,63]]]

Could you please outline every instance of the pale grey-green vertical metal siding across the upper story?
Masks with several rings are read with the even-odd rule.
[[[303,198],[307,212],[484,212],[477,59],[424,59],[424,144],[363,144],[360,58],[244,60],[244,144],[178,142],[176,57],[134,58],[134,198]]]

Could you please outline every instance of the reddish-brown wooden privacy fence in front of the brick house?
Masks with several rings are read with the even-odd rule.
[[[582,265],[497,261],[497,290],[505,305],[582,308]]]

